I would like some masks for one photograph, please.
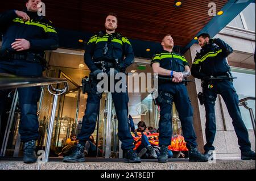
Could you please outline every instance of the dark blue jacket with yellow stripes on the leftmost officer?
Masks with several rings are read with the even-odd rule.
[[[37,12],[24,11],[30,16],[30,21],[23,22],[14,10],[0,14],[0,35],[3,35],[1,54],[9,53],[38,53],[44,55],[44,50],[57,49],[59,37],[55,28],[44,16],[38,16]],[[15,39],[30,41],[30,49],[16,52],[11,48]]]

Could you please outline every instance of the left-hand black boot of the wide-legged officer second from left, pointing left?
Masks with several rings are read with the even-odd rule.
[[[63,162],[84,162],[84,146],[81,144],[76,145],[76,148],[70,155],[63,158]]]

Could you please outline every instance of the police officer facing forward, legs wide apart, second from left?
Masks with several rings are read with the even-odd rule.
[[[90,135],[94,132],[101,99],[101,93],[96,88],[95,77],[97,74],[102,73],[103,68],[106,73],[109,73],[110,68],[114,68],[115,73],[124,72],[127,66],[134,62],[134,53],[129,40],[115,32],[117,28],[117,16],[115,14],[110,13],[106,17],[105,28],[106,31],[101,31],[92,36],[86,46],[84,61],[94,77],[92,90],[88,92],[85,116],[78,136],[80,142],[71,155],[64,157],[64,162],[85,161],[85,142],[89,140]],[[125,161],[140,163],[140,158],[133,151],[135,146],[127,119],[128,94],[127,92],[112,92],[112,97],[118,118],[118,136],[122,141],[122,149],[127,151]]]

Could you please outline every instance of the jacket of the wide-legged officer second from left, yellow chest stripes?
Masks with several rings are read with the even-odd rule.
[[[106,48],[107,47],[107,48]],[[101,31],[90,37],[84,54],[84,62],[90,71],[97,70],[94,62],[105,61],[125,69],[134,62],[134,52],[130,41],[119,33]]]

